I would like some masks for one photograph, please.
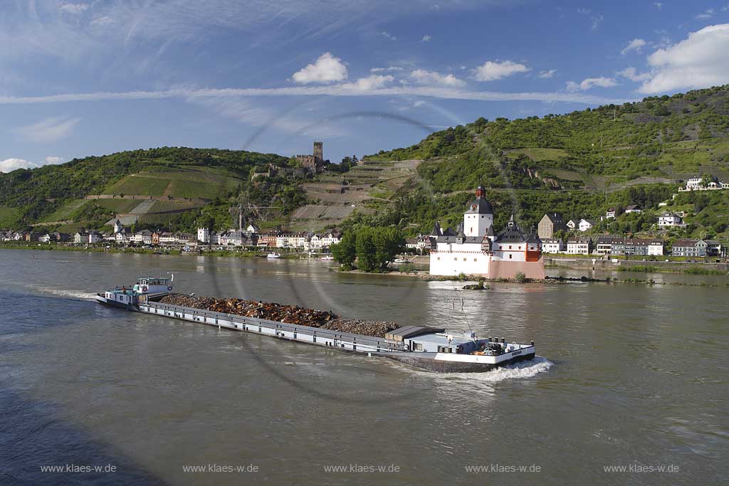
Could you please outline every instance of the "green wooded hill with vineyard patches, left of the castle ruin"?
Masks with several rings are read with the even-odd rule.
[[[60,224],[61,230],[72,231],[74,225],[99,227],[114,214],[133,214],[136,222],[147,219],[142,222],[165,224],[171,215],[209,201],[227,202],[250,189],[246,184],[254,171],[267,170],[270,163],[286,166],[288,162],[276,154],[162,147],[0,173],[0,227],[47,222],[48,227]],[[255,189],[261,192],[260,187]],[[272,194],[260,198],[273,197],[278,189],[274,187]],[[89,196],[98,199],[85,199]],[[145,199],[149,202],[139,207]]]

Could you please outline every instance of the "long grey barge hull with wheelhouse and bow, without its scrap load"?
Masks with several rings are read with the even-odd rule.
[[[131,288],[117,287],[97,294],[96,300],[104,305],[217,326],[218,329],[254,332],[335,350],[380,356],[432,372],[487,372],[535,356],[534,341],[518,344],[506,342],[504,338],[478,339],[473,332],[404,326],[387,332],[384,337],[373,337],[159,302],[171,293],[172,287],[172,278],[140,278]]]

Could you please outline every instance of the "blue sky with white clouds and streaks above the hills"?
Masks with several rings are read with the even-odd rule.
[[[729,83],[729,0],[3,0],[0,171],[156,146],[324,158]]]

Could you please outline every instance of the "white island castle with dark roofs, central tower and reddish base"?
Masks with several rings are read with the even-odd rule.
[[[436,222],[430,235],[431,275],[483,275],[486,278],[545,278],[542,241],[537,232],[525,235],[512,214],[507,227],[494,230],[494,208],[479,186],[458,230],[443,230]]]

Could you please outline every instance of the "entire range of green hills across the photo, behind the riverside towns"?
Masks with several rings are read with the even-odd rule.
[[[655,233],[655,216],[671,210],[685,211],[688,227],[669,238],[729,238],[729,193],[672,199],[689,177],[729,181],[729,86],[541,118],[480,118],[351,167],[328,163],[313,176],[296,175],[296,166],[277,154],[162,147],[0,173],[0,227],[72,232],[119,216],[147,227],[222,230],[240,205],[263,229],[363,222],[416,235],[436,220],[457,224],[483,183],[499,227],[510,213],[528,227],[545,212],[599,219],[610,206],[639,204],[642,216],[595,231]]]

